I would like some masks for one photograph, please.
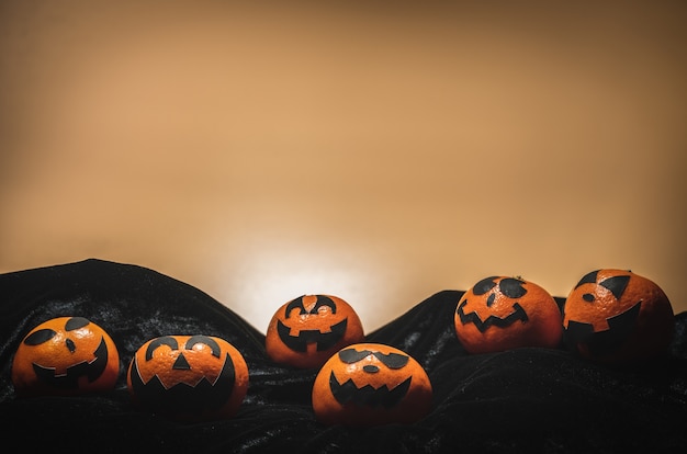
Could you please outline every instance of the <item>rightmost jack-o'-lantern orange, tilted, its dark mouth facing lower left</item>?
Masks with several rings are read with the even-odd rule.
[[[606,363],[651,359],[665,352],[674,314],[663,291],[626,270],[587,273],[564,306],[564,339],[582,356]]]

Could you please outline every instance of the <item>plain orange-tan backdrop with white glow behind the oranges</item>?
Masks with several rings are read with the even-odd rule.
[[[264,331],[493,274],[687,309],[684,2],[3,1],[0,272],[151,268]]]

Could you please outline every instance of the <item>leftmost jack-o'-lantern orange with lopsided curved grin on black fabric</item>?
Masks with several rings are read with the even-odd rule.
[[[119,373],[114,342],[83,317],[58,317],[38,325],[22,340],[12,363],[19,395],[110,390]]]

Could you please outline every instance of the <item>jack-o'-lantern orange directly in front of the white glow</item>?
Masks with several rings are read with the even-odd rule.
[[[303,295],[273,315],[266,350],[277,363],[302,368],[322,366],[339,349],[364,338],[358,314],[331,295]]]

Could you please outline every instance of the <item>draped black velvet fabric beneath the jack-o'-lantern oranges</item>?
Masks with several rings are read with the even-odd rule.
[[[641,367],[586,362],[563,348],[468,354],[453,329],[461,291],[418,302],[367,341],[404,350],[427,371],[433,409],[413,424],[325,427],[311,407],[317,371],[274,364],[264,334],[183,282],[137,265],[86,260],[0,275],[0,427],[22,451],[443,453],[678,452],[687,447],[687,314],[666,357]],[[558,298],[563,304],[561,298]],[[272,302],[273,303],[273,302]],[[114,390],[20,398],[11,364],[23,337],[58,316],[82,316],[117,344]],[[125,367],[145,341],[202,333],[233,343],[250,373],[228,420],[183,423],[138,410]]]

